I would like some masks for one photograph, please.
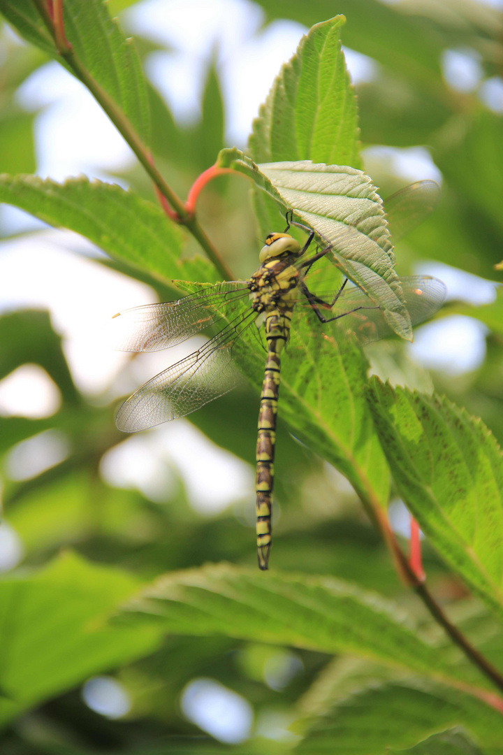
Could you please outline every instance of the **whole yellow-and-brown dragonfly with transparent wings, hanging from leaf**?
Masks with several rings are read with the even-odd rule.
[[[397,220],[404,212],[410,218],[410,208],[419,205],[413,220],[402,221],[402,230],[408,231],[411,223],[422,220],[428,205],[434,203],[436,184],[431,184],[412,184],[391,198],[389,214]],[[287,233],[290,226],[308,234],[302,246]],[[118,348],[133,352],[162,350],[207,328],[217,328],[203,346],[152,377],[121,405],[116,425],[126,433],[185,417],[235,387],[238,371],[233,347],[262,320],[266,354],[256,442],[256,547],[262,570],[268,569],[271,550],[281,356],[289,341],[294,312],[300,310],[302,316],[305,308],[310,310],[323,332],[343,319],[363,344],[391,334],[379,306],[347,278],[323,295],[311,291],[308,273],[332,248],[327,244],[310,254],[314,235],[314,230],[294,222],[290,211],[284,232],[270,233],[265,239],[259,268],[249,279],[203,286],[176,301],[134,307],[114,316],[124,333]],[[443,304],[446,287],[438,279],[409,276],[401,278],[400,283],[413,325],[431,317]],[[255,331],[259,332],[257,328]]]

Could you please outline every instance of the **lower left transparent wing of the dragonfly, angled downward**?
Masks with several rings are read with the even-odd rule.
[[[201,349],[160,372],[127,399],[115,424],[124,433],[185,417],[232,390],[242,378],[232,362],[232,344],[253,324],[256,313],[240,313]]]

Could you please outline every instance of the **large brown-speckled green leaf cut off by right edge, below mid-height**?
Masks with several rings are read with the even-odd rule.
[[[373,378],[370,407],[403,501],[431,544],[503,616],[503,455],[482,421]]]

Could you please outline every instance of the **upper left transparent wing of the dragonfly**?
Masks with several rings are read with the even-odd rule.
[[[160,351],[186,341],[225,316],[249,294],[246,283],[217,283],[164,304],[133,307],[112,318],[112,340],[119,351]]]

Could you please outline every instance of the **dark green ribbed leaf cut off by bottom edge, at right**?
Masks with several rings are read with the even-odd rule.
[[[501,753],[501,713],[451,689],[420,689],[405,683],[367,689],[346,698],[314,724],[296,752],[383,755],[389,747],[413,747],[419,740],[452,726],[462,726],[483,747],[484,755]],[[413,750],[422,751],[428,755],[435,752],[433,748]],[[445,750],[445,755],[462,752]],[[472,755],[473,750],[465,752]]]

